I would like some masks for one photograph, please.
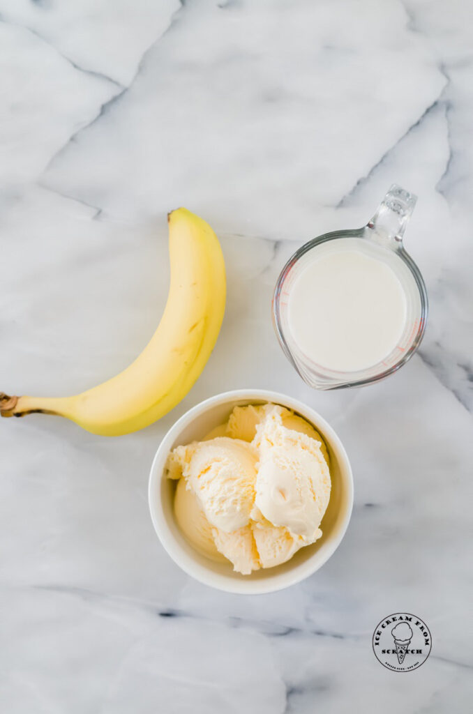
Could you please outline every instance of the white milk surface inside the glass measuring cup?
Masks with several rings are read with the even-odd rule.
[[[329,370],[359,371],[382,362],[406,325],[399,278],[362,245],[339,239],[309,251],[288,291],[292,340]]]

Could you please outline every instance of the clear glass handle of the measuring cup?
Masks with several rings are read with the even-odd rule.
[[[391,243],[393,248],[396,247],[402,243],[402,236],[416,202],[417,196],[414,196],[414,193],[404,191],[404,188],[393,183],[373,218],[368,221],[368,228],[372,228],[388,245]]]

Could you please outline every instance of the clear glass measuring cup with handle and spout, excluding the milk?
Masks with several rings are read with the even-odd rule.
[[[366,226],[352,231],[324,233],[305,243],[284,266],[274,291],[274,329],[287,358],[309,386],[339,389],[379,381],[402,367],[419,347],[429,311],[427,290],[419,268],[402,244],[416,201],[417,197],[412,193],[393,184]],[[327,241],[349,241],[344,243],[344,247],[352,247],[385,263],[394,271],[406,298],[406,319],[396,346],[381,361],[368,368],[339,371],[316,363],[298,346],[290,326],[288,306],[292,287],[304,268],[313,261],[315,251]],[[333,243],[330,247],[337,246]],[[375,295],[373,300],[376,300]],[[314,320],[317,320],[318,309],[323,309],[323,306],[314,306]]]

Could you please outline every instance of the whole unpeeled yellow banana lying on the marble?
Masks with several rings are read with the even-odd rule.
[[[186,396],[214,348],[225,310],[225,264],[210,226],[178,208],[168,215],[171,283],[154,336],[123,372],[65,398],[0,393],[1,416],[58,414],[91,433],[120,436],[161,418]]]

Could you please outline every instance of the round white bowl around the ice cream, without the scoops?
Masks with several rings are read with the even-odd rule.
[[[301,548],[291,560],[276,568],[256,570],[251,575],[235,573],[231,563],[216,563],[198,553],[184,537],[174,518],[176,481],[166,478],[166,458],[175,446],[199,441],[224,423],[234,406],[273,402],[294,410],[324,437],[330,454],[332,493],[322,520],[322,538]],[[271,593],[299,583],[319,570],[338,548],[352,514],[353,476],[347,453],[331,426],[317,411],[292,397],[261,389],[217,394],[197,404],[176,421],[156,451],[149,477],[149,510],[154,529],[164,550],[182,570],[212,588],[229,593]]]

